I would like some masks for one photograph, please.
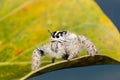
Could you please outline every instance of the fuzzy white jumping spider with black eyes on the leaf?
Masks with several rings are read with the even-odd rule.
[[[50,32],[50,43],[36,48],[32,54],[32,71],[39,68],[42,56],[50,56],[52,63],[56,58],[70,61],[79,56],[82,49],[86,49],[88,55],[98,54],[95,45],[83,35],[76,35],[68,31]]]

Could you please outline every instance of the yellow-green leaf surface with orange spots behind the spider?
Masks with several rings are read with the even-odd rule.
[[[0,80],[31,71],[32,52],[49,42],[48,29],[85,35],[100,54],[120,60],[119,32],[94,0],[0,0]],[[48,64],[43,58],[41,67]]]

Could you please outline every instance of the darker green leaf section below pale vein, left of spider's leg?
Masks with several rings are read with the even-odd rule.
[[[6,80],[18,80],[19,77],[22,77],[28,74],[30,71],[29,62],[14,62],[14,63],[0,63],[0,79]]]

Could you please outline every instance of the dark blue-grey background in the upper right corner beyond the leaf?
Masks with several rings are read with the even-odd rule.
[[[95,0],[120,32],[120,0]]]

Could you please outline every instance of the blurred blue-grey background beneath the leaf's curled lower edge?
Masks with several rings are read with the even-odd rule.
[[[120,80],[120,65],[99,65],[57,70],[28,80]]]

